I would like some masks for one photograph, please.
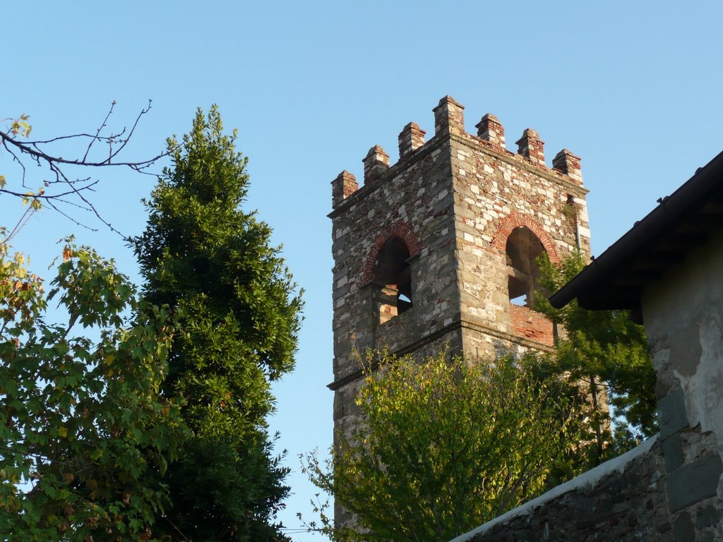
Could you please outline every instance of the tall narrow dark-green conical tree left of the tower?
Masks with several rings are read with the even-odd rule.
[[[270,381],[294,367],[301,301],[271,229],[240,205],[247,158],[218,108],[168,139],[172,165],[134,239],[145,297],[176,317],[163,394],[191,436],[164,480],[171,502],[155,535],[176,540],[285,540],[275,514],[288,494],[266,417]]]

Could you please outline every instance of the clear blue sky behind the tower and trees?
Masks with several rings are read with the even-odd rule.
[[[494,113],[510,150],[530,126],[548,165],[563,147],[582,157],[599,254],[722,150],[722,18],[723,4],[703,1],[7,1],[0,118],[30,114],[35,137],[89,132],[116,100],[117,129],[152,98],[128,158],[162,150],[212,103],[239,129],[247,209],[273,226],[306,290],[296,371],[275,386],[270,419],[294,470],[282,516],[294,528],[314,493],[296,456],[331,442],[330,181],[343,169],[361,178],[372,145],[395,161],[408,121],[430,137],[431,110],[449,94],[469,132]],[[0,172],[12,181],[13,171],[0,153]],[[154,179],[94,174],[99,212],[140,233]],[[0,196],[0,222],[19,215]],[[119,236],[76,216],[100,231],[46,210],[15,248],[44,270],[55,241],[75,233],[137,278]]]

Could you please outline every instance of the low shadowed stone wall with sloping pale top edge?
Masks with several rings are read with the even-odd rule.
[[[671,517],[665,463],[654,437],[453,542],[720,540],[711,503]],[[698,538],[690,537],[692,525]]]

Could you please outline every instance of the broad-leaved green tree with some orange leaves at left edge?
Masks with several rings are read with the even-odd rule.
[[[0,245],[0,539],[147,540],[179,435],[167,311],[72,244],[51,286]]]

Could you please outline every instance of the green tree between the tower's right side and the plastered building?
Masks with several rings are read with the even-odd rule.
[[[538,264],[539,285],[547,295],[584,267],[581,254],[574,254],[559,267],[546,257]],[[599,390],[607,390],[607,400],[614,409],[615,446],[607,453],[601,450],[599,459],[624,452],[655,434],[655,371],[643,326],[632,322],[627,311],[588,311],[578,306],[577,300],[555,309],[547,295],[536,296],[535,309],[564,327],[565,334],[555,353],[542,360],[541,368],[592,397],[591,403],[599,406],[596,416],[602,426],[609,425],[609,420],[604,404],[598,403]]]

